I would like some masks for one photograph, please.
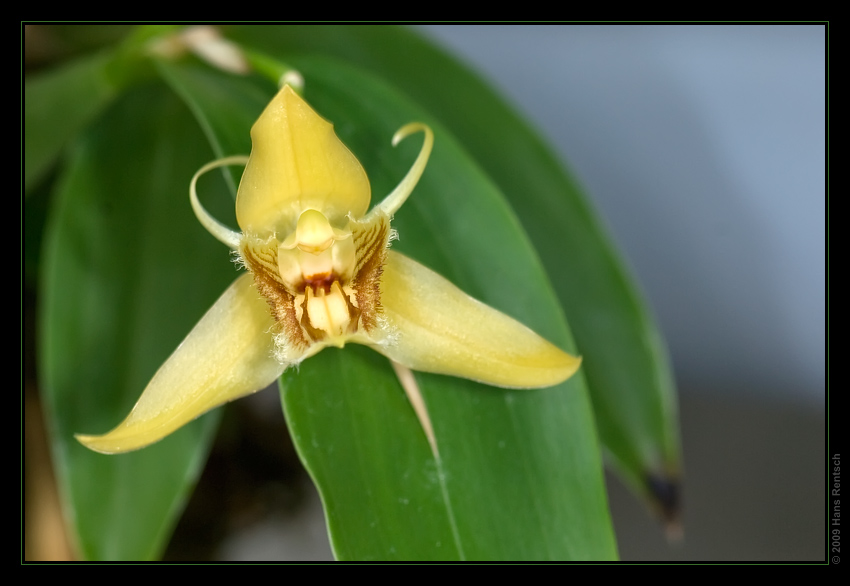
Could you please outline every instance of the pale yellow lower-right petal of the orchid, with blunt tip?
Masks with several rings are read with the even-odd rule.
[[[397,252],[389,251],[384,265],[381,306],[397,339],[374,347],[413,370],[537,388],[568,379],[581,364],[580,357]]]

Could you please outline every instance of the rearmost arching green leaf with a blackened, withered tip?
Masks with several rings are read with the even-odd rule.
[[[638,494],[675,516],[680,448],[664,343],[580,187],[537,133],[477,75],[404,29],[270,26],[226,33],[296,66],[300,55],[325,55],[366,68],[458,138],[511,202],[543,261],[584,356],[608,454]]]

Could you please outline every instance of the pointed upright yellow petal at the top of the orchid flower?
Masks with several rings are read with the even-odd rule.
[[[285,233],[305,209],[332,223],[362,217],[371,191],[366,172],[337,138],[333,125],[288,85],[251,128],[251,157],[236,198],[242,231]]]

